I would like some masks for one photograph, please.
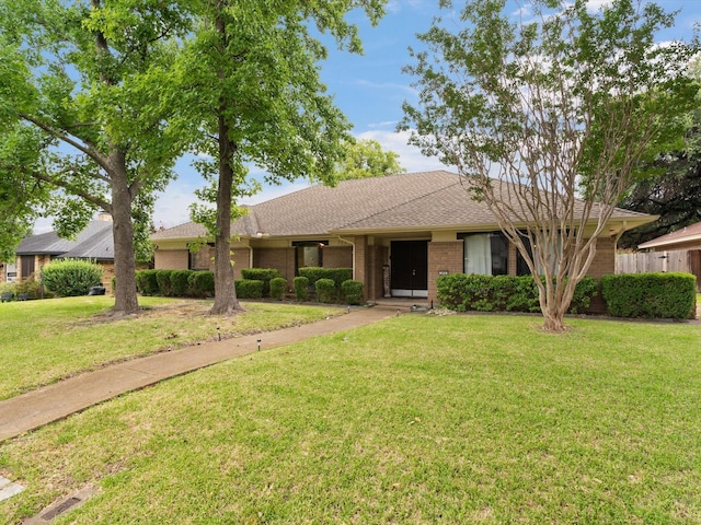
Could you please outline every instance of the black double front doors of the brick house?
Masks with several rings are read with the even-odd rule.
[[[395,298],[428,296],[428,241],[392,241],[390,288]]]

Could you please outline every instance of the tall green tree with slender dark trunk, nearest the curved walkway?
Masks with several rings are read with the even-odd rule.
[[[361,8],[377,21],[383,0],[214,0],[196,3],[200,24],[179,68],[182,96],[200,130],[196,145],[210,162],[198,163],[212,183],[209,213],[195,220],[215,237],[212,314],[240,308],[231,267],[231,220],[235,200],[249,191],[248,166],[266,180],[304,177],[332,180],[350,125],[325,93],[319,63],[326,49],[313,31],[331,34],[338,46],[361,50],[347,13]],[[215,189],[216,187],[216,189]],[[232,206],[233,202],[233,206]],[[207,217],[208,215],[208,217]]]

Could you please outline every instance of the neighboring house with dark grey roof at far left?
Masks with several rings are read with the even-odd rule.
[[[103,283],[110,288],[114,276],[112,218],[101,214],[99,220],[90,221],[72,241],[60,238],[56,232],[33,235],[20,243],[15,254],[15,262],[5,265],[1,280],[11,282],[38,275],[44,266],[56,258],[90,259],[103,267]]]

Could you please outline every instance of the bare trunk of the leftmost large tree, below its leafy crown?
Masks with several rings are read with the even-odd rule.
[[[136,293],[136,257],[134,254],[134,224],[125,155],[110,155],[112,164],[112,232],[114,235],[115,315],[139,313]]]

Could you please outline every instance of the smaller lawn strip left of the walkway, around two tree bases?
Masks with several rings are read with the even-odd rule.
[[[338,308],[246,303],[231,317],[207,314],[210,301],[140,298],[137,318],[108,316],[114,299],[84,296],[0,304],[0,399],[105,363],[198,341],[322,319]],[[219,328],[219,330],[217,330]]]

